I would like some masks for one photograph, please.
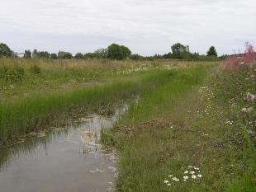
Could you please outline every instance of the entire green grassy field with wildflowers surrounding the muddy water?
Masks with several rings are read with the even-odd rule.
[[[130,101],[102,130],[119,151],[117,191],[255,191],[255,76],[218,62],[1,59],[0,145]]]

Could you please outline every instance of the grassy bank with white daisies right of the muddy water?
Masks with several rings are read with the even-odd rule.
[[[255,81],[244,80],[255,73],[248,70],[210,75],[197,66],[146,89],[103,131],[102,142],[120,151],[117,190],[254,191],[255,111],[240,113],[249,107],[246,92],[255,92]]]

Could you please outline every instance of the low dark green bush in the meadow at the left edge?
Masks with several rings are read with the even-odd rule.
[[[0,78],[4,78],[7,82],[18,82],[23,79],[25,75],[24,68],[19,66],[7,67],[2,66],[0,68]]]

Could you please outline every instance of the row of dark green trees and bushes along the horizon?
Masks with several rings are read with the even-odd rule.
[[[125,45],[111,44],[107,48],[97,49],[93,53],[77,53],[71,54],[66,51],[59,51],[57,54],[50,54],[47,51],[33,51],[27,49],[24,53],[18,54],[12,51],[7,44],[0,44],[0,58],[24,58],[24,59],[112,59],[112,60],[123,60],[123,59],[195,59],[195,60],[207,60],[207,59],[221,59],[218,57],[216,48],[211,46],[207,51],[206,55],[199,53],[191,53],[189,46],[184,44],[173,44],[171,51],[168,54],[155,54],[153,56],[141,56],[140,54],[132,54],[130,49]]]

